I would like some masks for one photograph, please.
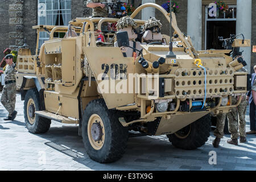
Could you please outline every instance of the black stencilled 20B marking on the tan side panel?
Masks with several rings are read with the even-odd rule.
[[[102,64],[101,69],[104,71],[101,80],[109,80],[107,76],[110,68],[110,78],[112,80],[126,80],[127,79],[127,65],[126,64]]]

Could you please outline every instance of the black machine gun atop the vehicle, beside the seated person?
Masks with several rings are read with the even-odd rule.
[[[123,3],[125,2],[121,2],[120,0],[117,0],[117,2],[102,2],[102,4],[106,5],[111,10],[111,13],[108,15],[109,18],[122,18],[127,15]]]

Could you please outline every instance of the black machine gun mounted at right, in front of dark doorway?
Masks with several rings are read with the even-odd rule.
[[[220,40],[222,43],[222,47],[224,47],[224,49],[232,49],[232,52],[230,52],[230,56],[233,57],[237,57],[237,56],[241,56],[242,52],[240,52],[240,47],[233,47],[233,43],[235,41],[235,39],[237,38],[237,36],[242,35],[243,39],[242,39],[242,44],[245,42],[245,36],[243,36],[243,34],[238,34],[238,35],[234,35],[234,34],[230,34],[230,38],[226,38],[223,39],[222,36],[218,37],[218,40]]]

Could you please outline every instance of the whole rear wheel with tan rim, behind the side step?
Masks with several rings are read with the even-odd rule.
[[[24,99],[24,119],[30,133],[46,133],[51,126],[51,120],[40,117],[35,111],[41,110],[39,93],[36,88],[27,91]]]

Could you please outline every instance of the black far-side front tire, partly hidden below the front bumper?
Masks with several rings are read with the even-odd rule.
[[[182,148],[184,150],[194,150],[199,148],[207,142],[210,136],[210,115],[207,114],[204,117],[198,119],[197,121],[191,123],[190,125],[184,127],[183,129],[177,131],[174,134],[167,135],[172,145],[177,148]],[[187,135],[183,138],[179,137],[179,132],[188,131]]]

